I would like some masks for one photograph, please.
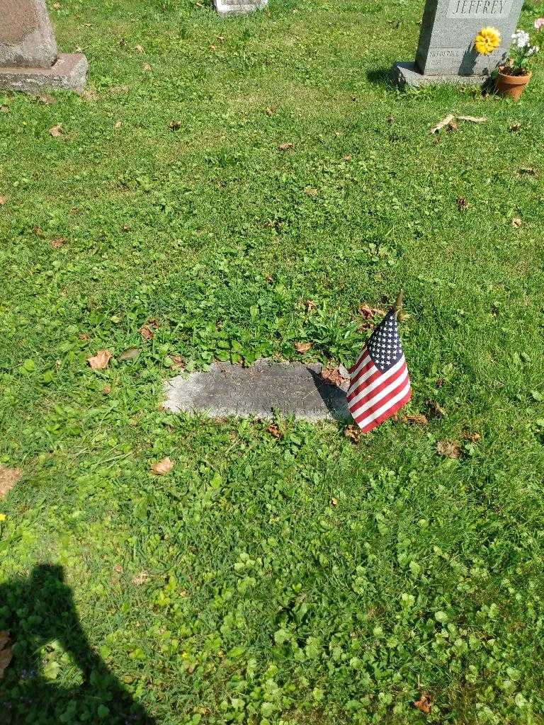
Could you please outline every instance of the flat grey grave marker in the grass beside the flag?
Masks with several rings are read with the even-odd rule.
[[[165,384],[164,407],[213,418],[273,418],[275,411],[307,421],[348,421],[345,390],[320,377],[322,366],[258,360],[250,368],[213,363],[208,373]]]

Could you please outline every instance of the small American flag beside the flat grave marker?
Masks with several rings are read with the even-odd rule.
[[[400,344],[397,314],[391,310],[350,368],[347,407],[363,433],[368,433],[395,415],[410,397],[410,377]]]

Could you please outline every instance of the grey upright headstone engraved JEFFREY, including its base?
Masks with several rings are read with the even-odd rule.
[[[524,0],[426,0],[415,63],[396,63],[400,86],[425,83],[483,83],[506,58]],[[479,30],[500,31],[501,45],[490,55],[474,50]]]

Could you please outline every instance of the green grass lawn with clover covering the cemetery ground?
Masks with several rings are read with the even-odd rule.
[[[543,66],[399,94],[421,6],[51,7],[86,94],[0,98],[7,724],[544,722]],[[401,286],[426,426],[161,410],[176,356],[353,362]]]

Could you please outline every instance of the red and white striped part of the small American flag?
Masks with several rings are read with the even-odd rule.
[[[365,347],[358,361],[350,368],[350,381],[347,407],[363,433],[368,433],[395,415],[411,397],[404,355],[392,368],[382,373],[374,365]]]

